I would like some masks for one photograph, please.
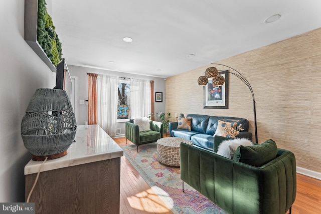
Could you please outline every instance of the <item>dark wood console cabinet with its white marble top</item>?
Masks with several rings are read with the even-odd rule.
[[[80,125],[66,156],[42,166],[29,202],[36,213],[119,213],[123,150],[98,125]],[[43,161],[25,166],[26,200]]]

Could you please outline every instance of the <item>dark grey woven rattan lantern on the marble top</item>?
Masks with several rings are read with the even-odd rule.
[[[75,138],[76,118],[66,91],[37,89],[21,123],[21,136],[33,160],[68,153]]]

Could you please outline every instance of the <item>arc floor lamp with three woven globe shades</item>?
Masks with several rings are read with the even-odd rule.
[[[249,81],[240,72],[238,72],[237,70],[235,70],[234,68],[232,68],[230,66],[219,64],[219,63],[211,63],[211,64],[212,65],[221,65],[221,66],[225,66],[227,68],[232,69],[236,73],[231,72],[231,71],[228,71],[228,73],[233,74],[234,76],[240,78],[245,83],[245,85],[250,89],[250,92],[252,94],[252,100],[253,100],[255,143],[258,143],[255,98],[254,98],[253,89],[252,89]],[[221,86],[225,83],[224,77],[218,74],[218,70],[215,67],[210,67],[210,68],[206,69],[204,76],[200,76],[198,78],[198,84],[205,86],[208,83],[208,79],[212,79],[212,78],[213,78],[213,83],[215,83],[216,86]]]

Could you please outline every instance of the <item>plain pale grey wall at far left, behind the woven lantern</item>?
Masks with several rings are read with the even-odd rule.
[[[24,166],[31,154],[21,121],[37,88],[53,88],[53,73],[24,40],[25,1],[0,1],[0,201],[25,201]]]

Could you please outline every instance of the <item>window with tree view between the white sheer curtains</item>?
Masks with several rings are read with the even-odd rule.
[[[130,118],[130,83],[129,80],[119,80],[117,119]]]

